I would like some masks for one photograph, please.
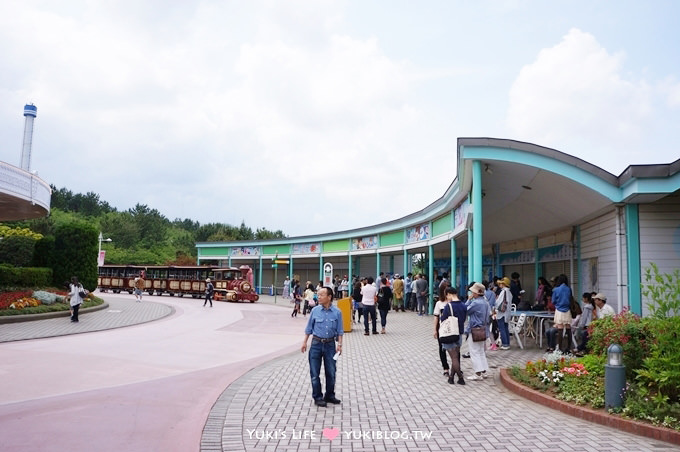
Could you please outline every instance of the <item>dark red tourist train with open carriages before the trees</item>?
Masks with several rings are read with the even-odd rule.
[[[216,301],[256,302],[257,295],[252,283],[252,270],[247,265],[240,267],[209,266],[153,266],[153,265],[102,265],[99,267],[97,288],[101,292],[114,293],[134,290],[135,278],[142,275],[144,291],[149,295],[163,295],[193,298],[205,296],[206,279],[210,278],[215,287]]]

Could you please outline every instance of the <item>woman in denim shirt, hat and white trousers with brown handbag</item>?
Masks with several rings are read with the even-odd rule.
[[[470,328],[468,347],[472,369],[475,371],[475,375],[470,377],[470,380],[476,381],[486,378],[489,370],[489,363],[486,360],[486,339],[489,337],[491,308],[484,297],[484,291],[484,284],[474,283],[470,287],[472,299],[467,307],[468,327]]]

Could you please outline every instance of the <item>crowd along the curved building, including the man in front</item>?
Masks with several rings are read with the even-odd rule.
[[[489,364],[486,357],[487,350],[509,350],[510,331],[513,312],[517,311],[549,311],[553,312],[552,326],[547,328],[548,352],[556,349],[576,355],[583,355],[588,343],[588,326],[596,318],[613,315],[614,310],[607,305],[607,297],[602,293],[586,292],[582,295],[582,303],[579,304],[572,295],[569,280],[566,275],[560,274],[550,280],[543,276],[537,280],[535,297],[533,300],[526,296],[522,289],[520,275],[513,272],[510,277],[494,277],[491,281],[472,282],[467,286],[467,293],[460,297],[458,290],[452,287],[448,275],[442,274],[436,279],[437,295],[433,309],[434,338],[437,340],[439,358],[443,374],[450,384],[465,385],[465,378],[461,370],[461,358],[470,358],[474,374],[468,380],[481,381],[488,377]],[[418,316],[428,315],[429,284],[427,276],[422,273],[408,273],[406,276],[394,274],[387,276],[380,273],[377,279],[372,276],[365,278],[353,277],[351,282],[345,275],[344,278],[336,276],[331,286],[324,287],[319,282],[316,288],[310,281],[305,285],[304,293],[301,292],[300,282],[296,279],[284,282],[284,297],[290,298],[294,304],[292,317],[296,317],[302,309],[303,316],[312,311],[319,304],[317,295],[324,294],[322,311],[318,311],[316,318],[322,312],[332,315],[336,322],[341,321],[339,310],[330,311],[330,302],[333,297],[351,297],[352,322],[361,324],[363,316],[364,335],[385,334],[387,327],[387,315],[389,311],[411,311]],[[350,290],[351,289],[351,290]],[[321,307],[319,309],[321,309]],[[377,328],[377,314],[380,314],[380,331]],[[450,321],[450,317],[454,321]],[[337,317],[337,318],[336,318]],[[447,324],[446,335],[440,335],[440,328]],[[323,324],[322,324],[323,325]],[[451,326],[454,325],[454,326]],[[328,326],[328,325],[326,325]],[[305,341],[302,351],[306,350],[309,336],[313,336],[312,345],[315,357],[312,359],[310,352],[310,369],[312,376],[313,397],[318,406],[326,403],[340,403],[335,398],[334,384],[327,387],[326,396],[320,391],[319,372],[321,360],[330,360],[331,351],[341,353],[341,342],[335,346],[329,345],[324,348],[331,338],[325,337],[324,333],[315,335],[317,328],[315,318],[310,318],[306,328]],[[342,328],[333,324],[334,331]],[[334,341],[339,341],[340,333],[335,331]],[[573,334],[572,334],[573,332]],[[461,354],[463,343],[467,343],[468,352]],[[573,346],[572,346],[573,345]],[[322,350],[326,350],[323,352]],[[337,354],[327,369],[327,384],[329,378],[334,382],[335,362]],[[449,365],[449,358],[451,364]],[[332,375],[331,375],[332,374]],[[325,397],[325,398],[324,398]]]

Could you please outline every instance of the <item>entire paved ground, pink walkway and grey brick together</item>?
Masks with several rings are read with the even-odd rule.
[[[0,386],[3,451],[678,450],[507,392],[497,368],[540,357],[536,348],[489,352],[493,378],[447,384],[432,317],[391,312],[376,336],[355,325],[338,361],[343,403],[317,408],[299,351],[305,319],[280,297],[212,310],[105,298],[110,308],[78,325],[0,325],[0,372],[16,382]],[[119,329],[73,336],[106,325]],[[39,337],[54,338],[22,340]]]

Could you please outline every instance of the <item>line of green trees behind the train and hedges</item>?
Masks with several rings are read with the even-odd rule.
[[[66,188],[51,188],[49,216],[3,224],[28,228],[51,237],[60,226],[87,223],[101,231],[105,239],[111,239],[110,242],[102,243],[107,264],[195,265],[196,242],[286,237],[281,230],[257,228],[253,231],[243,221],[239,226],[226,223],[200,224],[189,218],[171,221],[146,204],[119,211],[101,200],[97,193],[83,195]]]

